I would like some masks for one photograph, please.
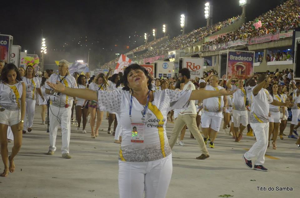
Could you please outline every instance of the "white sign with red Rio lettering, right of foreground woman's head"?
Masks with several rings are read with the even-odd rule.
[[[183,58],[183,68],[188,68],[191,79],[203,77],[204,58]]]

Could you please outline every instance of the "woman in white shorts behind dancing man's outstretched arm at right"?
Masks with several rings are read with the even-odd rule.
[[[270,90],[270,95],[273,97],[273,100],[277,100],[279,102],[283,102],[284,99],[281,94],[278,94],[278,85],[273,84]],[[281,123],[280,117],[280,108],[282,108],[282,112],[285,112],[285,107],[274,106],[270,104],[270,117],[269,117],[269,143],[268,148],[270,147],[270,137],[273,134],[273,149],[276,149],[276,139],[278,136],[279,125]]]

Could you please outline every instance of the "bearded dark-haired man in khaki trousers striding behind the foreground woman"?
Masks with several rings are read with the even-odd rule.
[[[183,90],[195,90],[195,85],[190,81],[190,71],[187,68],[183,68],[179,71],[179,80],[184,83]],[[193,136],[197,139],[198,145],[202,154],[196,159],[206,159],[209,158],[209,153],[205,146],[204,140],[202,135],[200,134],[197,123],[197,110],[195,106],[195,101],[192,100],[189,102],[188,107],[186,110],[180,111],[177,119],[175,120],[174,128],[171,134],[171,138],[169,141],[171,149],[173,148],[176,139],[178,138],[179,132],[183,129],[185,125],[187,125],[188,129],[191,131]]]

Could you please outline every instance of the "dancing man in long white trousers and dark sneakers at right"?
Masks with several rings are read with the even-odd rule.
[[[252,105],[250,112],[250,125],[255,133],[256,143],[251,149],[243,155],[244,162],[248,168],[252,168],[251,158],[257,156],[254,163],[254,169],[259,171],[267,171],[263,166],[265,162],[265,153],[268,145],[269,134],[269,108],[270,105],[290,106],[290,103],[279,102],[273,100],[267,91],[267,87],[271,82],[271,78],[267,74],[261,74],[258,77],[258,84],[252,88]]]

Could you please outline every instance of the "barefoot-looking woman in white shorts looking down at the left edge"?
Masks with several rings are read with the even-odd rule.
[[[4,171],[1,177],[6,177],[8,172],[15,171],[13,158],[19,152],[22,145],[22,129],[25,117],[25,83],[17,67],[6,64],[0,76],[0,148],[4,163]],[[11,127],[13,134],[12,153],[8,157],[7,130]]]

